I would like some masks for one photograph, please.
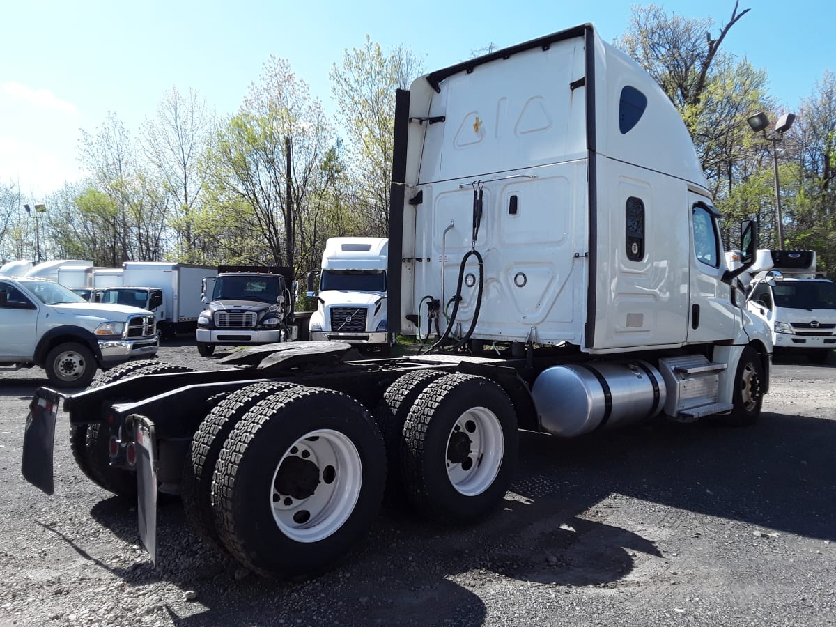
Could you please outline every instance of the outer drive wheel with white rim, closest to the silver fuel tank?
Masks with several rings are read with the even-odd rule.
[[[505,390],[475,375],[427,385],[404,426],[407,496],[439,523],[472,523],[502,499],[517,464],[517,414]]]

